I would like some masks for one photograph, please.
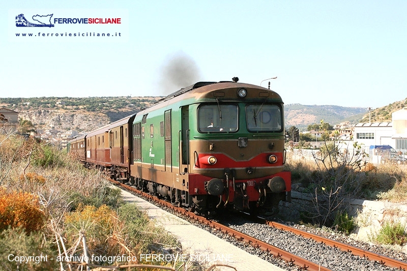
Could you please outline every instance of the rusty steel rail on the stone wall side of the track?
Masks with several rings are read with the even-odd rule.
[[[264,221],[267,225],[275,227],[277,229],[293,232],[293,233],[303,236],[305,238],[313,239],[316,242],[322,242],[328,246],[331,246],[334,248],[339,248],[340,250],[350,252],[353,255],[368,258],[369,260],[372,260],[372,261],[380,262],[386,266],[407,270],[407,262],[396,260],[396,259],[387,257],[385,255],[381,255],[381,254],[371,252],[371,251],[368,251],[368,250],[365,250],[362,248],[358,248],[355,246],[347,245],[345,243],[342,243],[342,242],[339,242],[339,241],[336,241],[336,240],[333,240],[330,238],[322,237],[322,236],[319,236],[319,235],[316,235],[313,233],[309,233],[304,230],[299,230],[299,229],[296,229],[296,228],[293,228],[293,227],[290,227],[290,226],[287,226],[287,225],[284,225],[281,223],[267,221],[267,220],[264,220]]]

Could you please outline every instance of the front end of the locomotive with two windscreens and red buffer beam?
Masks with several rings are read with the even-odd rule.
[[[290,201],[283,112],[280,96],[267,88],[236,82],[202,87],[189,106],[189,194],[196,209],[255,213]]]

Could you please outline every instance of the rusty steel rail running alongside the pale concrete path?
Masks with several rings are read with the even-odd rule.
[[[284,259],[286,263],[294,263],[297,266],[299,266],[300,269],[308,270],[308,271],[332,271],[332,269],[329,269],[329,268],[327,268],[325,266],[322,266],[322,265],[320,265],[318,263],[314,263],[312,261],[309,261],[309,260],[307,260],[305,258],[302,258],[300,256],[297,256],[295,254],[289,253],[289,252],[287,252],[285,250],[277,248],[277,247],[275,247],[275,246],[273,246],[271,244],[263,242],[263,241],[261,241],[259,239],[256,239],[256,238],[252,237],[252,236],[249,236],[249,235],[244,234],[242,232],[239,232],[237,230],[231,229],[231,228],[229,228],[229,227],[227,227],[225,225],[222,225],[222,224],[220,224],[220,223],[218,223],[216,221],[210,220],[210,219],[202,217],[202,216],[195,215],[192,212],[188,212],[184,208],[172,205],[170,202],[160,200],[157,197],[154,197],[154,196],[152,196],[150,194],[139,191],[139,190],[137,190],[137,189],[135,189],[133,187],[124,185],[124,184],[122,184],[120,182],[117,182],[115,180],[111,180],[111,179],[109,179],[109,180],[110,180],[110,182],[112,182],[114,184],[120,185],[121,187],[123,187],[125,189],[128,189],[128,190],[130,190],[132,192],[135,192],[135,193],[137,193],[137,194],[139,194],[139,195],[141,195],[143,197],[154,200],[155,202],[157,202],[157,203],[159,203],[159,204],[161,204],[161,205],[163,205],[165,207],[168,207],[168,208],[170,208],[172,210],[175,210],[176,212],[181,213],[184,216],[187,216],[187,217],[189,217],[191,219],[194,219],[195,221],[199,221],[200,223],[202,223],[204,225],[207,225],[207,226],[210,226],[210,227],[212,227],[214,229],[217,229],[217,230],[221,231],[224,234],[228,234],[228,235],[230,235],[232,237],[235,237],[237,240],[245,242],[248,245],[251,245],[251,246],[253,246],[255,248],[259,248],[259,249],[264,250],[264,251],[266,251],[268,253],[271,253],[276,258]]]

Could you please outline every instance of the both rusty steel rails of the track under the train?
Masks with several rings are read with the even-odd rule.
[[[298,269],[302,269],[302,270],[309,270],[309,271],[314,271],[314,270],[332,270],[329,267],[323,266],[322,264],[313,262],[311,260],[308,260],[304,257],[298,256],[294,253],[290,253],[286,250],[283,250],[281,248],[278,248],[276,246],[273,246],[267,242],[264,242],[262,240],[259,240],[253,236],[250,236],[250,234],[246,234],[243,233],[239,230],[233,229],[231,227],[225,226],[222,223],[219,223],[217,221],[213,221],[210,220],[208,218],[205,217],[201,217],[201,216],[197,216],[194,213],[188,212],[187,210],[185,210],[184,208],[181,207],[177,207],[177,206],[173,206],[171,203],[160,200],[150,194],[141,192],[137,189],[135,189],[134,187],[130,187],[127,185],[124,185],[122,183],[116,182],[114,180],[111,180],[112,183],[119,185],[121,187],[123,187],[124,189],[130,190],[134,193],[137,193],[143,197],[146,197],[150,200],[153,200],[167,208],[170,208],[172,210],[174,210],[177,213],[182,214],[185,217],[188,217],[190,219],[193,219],[194,221],[197,221],[203,225],[206,225],[208,227],[211,227],[212,229],[216,230],[217,232],[220,232],[222,234],[227,234],[229,236],[232,236],[234,238],[236,238],[237,240],[239,240],[240,242],[244,242],[245,244],[251,245],[254,248],[263,250],[267,253],[270,253],[273,255],[273,257],[275,258],[279,258],[281,260],[284,260],[287,264],[295,264],[298,266]],[[347,245],[341,242],[338,242],[336,240],[333,239],[329,239],[326,237],[322,237],[322,236],[318,236],[316,234],[312,234],[306,231],[302,231],[281,223],[277,223],[277,222],[273,222],[273,221],[267,221],[264,219],[260,219],[259,218],[259,223],[265,224],[268,227],[272,227],[272,228],[276,228],[278,230],[283,230],[283,231],[288,231],[288,232],[292,232],[298,236],[302,236],[304,238],[309,238],[309,239],[313,239],[318,243],[321,244],[325,244],[326,246],[330,246],[333,248],[338,248],[342,251],[345,252],[349,252],[352,253],[353,255],[362,257],[364,259],[368,259],[371,261],[376,261],[379,262],[383,265],[389,266],[389,267],[394,267],[394,268],[398,268],[398,269],[404,269],[407,270],[407,263],[400,261],[400,260],[396,260],[384,255],[380,255],[374,252],[370,252],[368,250],[364,250],[358,247],[354,247],[351,245]]]

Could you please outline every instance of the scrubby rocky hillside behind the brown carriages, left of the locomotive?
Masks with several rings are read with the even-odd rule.
[[[162,97],[0,98],[0,107],[17,111],[36,129],[92,131],[137,113]]]

